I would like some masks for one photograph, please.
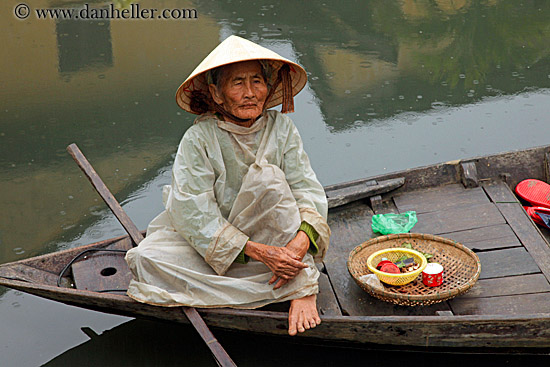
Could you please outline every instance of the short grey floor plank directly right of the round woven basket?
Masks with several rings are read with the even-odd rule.
[[[479,279],[540,273],[537,263],[523,247],[480,252]]]

